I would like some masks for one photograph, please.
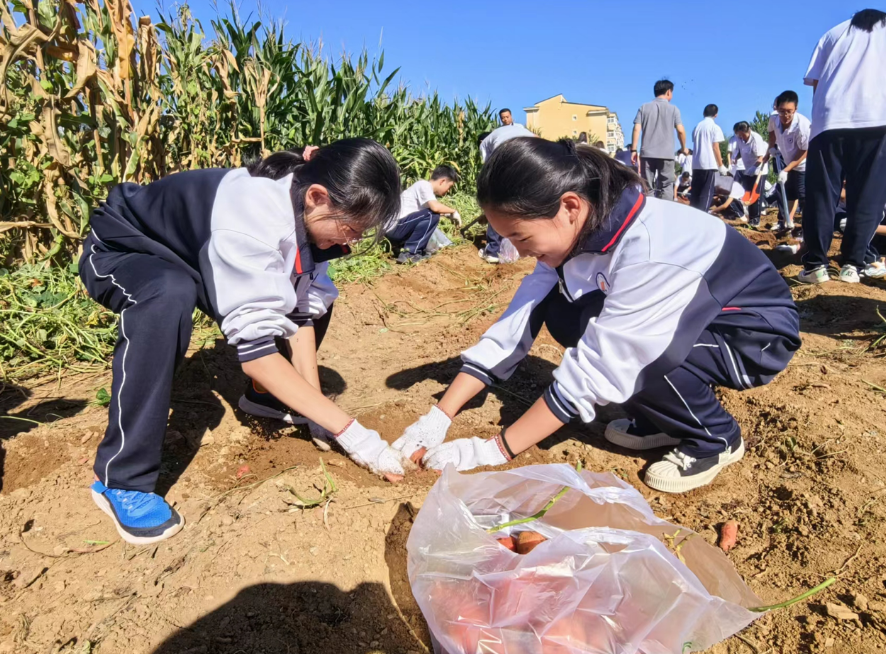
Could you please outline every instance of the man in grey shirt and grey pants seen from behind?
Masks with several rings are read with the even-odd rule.
[[[640,147],[640,174],[646,180],[649,192],[665,200],[674,199],[674,130],[680,139],[680,152],[689,154],[686,149],[686,129],[680,110],[671,104],[674,97],[674,83],[663,79],[655,83],[655,100],[647,102],[637,111],[634,118],[634,133],[631,145],[631,160],[637,163],[637,144],[643,134]]]

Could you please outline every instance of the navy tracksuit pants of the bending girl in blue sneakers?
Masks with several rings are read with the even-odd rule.
[[[80,277],[90,297],[120,316],[108,428],[93,470],[108,488],[152,492],[194,309],[212,315],[199,301],[202,281],[152,254],[105,249],[93,236],[84,242]],[[330,315],[331,307],[314,321],[318,346]]]

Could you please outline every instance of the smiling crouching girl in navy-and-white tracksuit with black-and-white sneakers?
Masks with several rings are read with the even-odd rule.
[[[478,180],[489,224],[537,265],[510,306],[462,354],[440,403],[393,447],[424,465],[503,465],[596,407],[622,404],[605,437],[669,447],[645,482],[683,492],[742,458],[713,386],[766,384],[800,346],[787,284],[760,250],[707,213],[644,195],[629,168],[585,145],[538,138],[498,148]],[[543,395],[488,440],[444,443],[472,397],[508,379],[541,331],[565,351]]]

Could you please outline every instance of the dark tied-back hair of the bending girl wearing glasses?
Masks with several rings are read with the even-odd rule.
[[[295,148],[255,161],[247,166],[253,177],[281,179],[293,174],[292,196],[304,206],[312,184],[329,193],[338,210],[336,218],[361,232],[375,229],[380,240],[400,213],[400,170],[387,149],[371,139],[344,139],[324,145],[310,161],[304,148]]]

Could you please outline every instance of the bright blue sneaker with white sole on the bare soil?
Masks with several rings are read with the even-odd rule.
[[[100,481],[90,487],[92,499],[111,516],[127,543],[150,545],[175,536],[185,519],[159,495],[108,488]]]

